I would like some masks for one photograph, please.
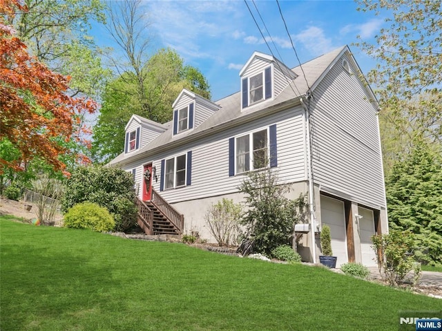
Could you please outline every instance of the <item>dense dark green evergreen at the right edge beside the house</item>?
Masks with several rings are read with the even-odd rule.
[[[442,263],[441,152],[421,143],[394,164],[386,182],[390,227],[416,234],[416,245],[428,251],[422,258],[431,264]]]

